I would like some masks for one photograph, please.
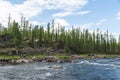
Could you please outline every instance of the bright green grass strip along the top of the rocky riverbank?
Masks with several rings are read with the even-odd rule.
[[[91,58],[91,56],[88,56],[88,54],[77,54],[78,56],[81,56],[83,58]],[[120,58],[120,54],[95,54],[95,55],[102,55],[105,56],[106,58]],[[70,54],[54,54],[54,55],[47,55],[47,54],[30,54],[27,55],[26,58],[28,59],[32,59],[33,57],[38,57],[40,59],[44,59],[46,56],[55,56],[57,58],[60,59],[70,59],[72,55]],[[7,54],[0,54],[0,59],[11,59],[11,60],[17,60],[17,59],[21,59],[24,58],[22,56],[19,55],[7,55]]]

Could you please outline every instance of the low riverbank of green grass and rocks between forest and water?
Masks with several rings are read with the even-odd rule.
[[[105,59],[105,58],[120,58],[119,54],[29,54],[21,55],[0,55],[0,64],[21,64],[30,62],[43,63],[64,63],[74,62],[80,59]]]

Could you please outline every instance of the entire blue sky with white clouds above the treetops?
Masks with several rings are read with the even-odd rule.
[[[109,31],[120,34],[120,0],[0,0],[0,23],[7,27],[8,16],[20,22],[55,24],[71,28]]]

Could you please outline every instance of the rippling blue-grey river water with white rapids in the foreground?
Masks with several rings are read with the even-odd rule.
[[[53,65],[63,68],[49,68]],[[0,80],[120,80],[120,59],[5,65],[0,66]]]

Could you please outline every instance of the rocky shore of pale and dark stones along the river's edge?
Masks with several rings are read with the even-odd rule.
[[[88,54],[87,56],[80,56],[80,55],[67,55],[68,57],[60,58],[58,56],[45,56],[44,58],[39,58],[36,56],[33,56],[31,59],[29,58],[20,58],[20,59],[7,59],[3,58],[0,59],[0,64],[21,64],[21,63],[30,63],[30,62],[43,62],[43,63],[64,63],[64,62],[74,62],[75,60],[80,59],[94,59],[94,58],[106,58],[105,55],[94,55],[94,54]]]

